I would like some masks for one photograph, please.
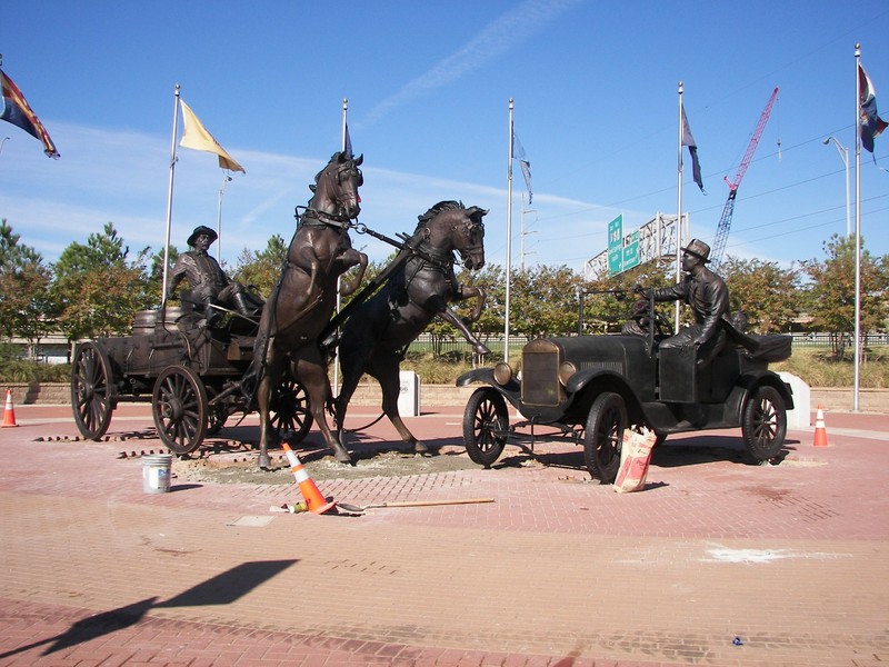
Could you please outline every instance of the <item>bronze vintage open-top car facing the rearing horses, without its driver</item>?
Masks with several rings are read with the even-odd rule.
[[[660,316],[653,319],[658,326],[645,336],[533,340],[522,349],[519,375],[501,362],[460,376],[458,386],[487,385],[471,395],[463,415],[469,457],[490,467],[511,437],[527,428],[533,435],[536,426],[582,441],[587,468],[602,484],[617,476],[628,428],[647,427],[661,442],[670,434],[740,427],[753,459],[777,457],[793,396],[768,362],[790,356],[790,337],[739,335],[697,369],[693,355],[659,349],[668,328]],[[513,426],[507,402],[522,417]]]

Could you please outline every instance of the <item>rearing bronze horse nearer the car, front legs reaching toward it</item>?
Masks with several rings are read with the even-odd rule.
[[[487,212],[478,207],[465,208],[458,201],[442,201],[419,216],[417,230],[393,262],[400,261],[400,266],[346,320],[339,340],[342,388],[334,401],[337,439],[341,446],[349,399],[361,376],[368,374],[379,381],[383,412],[401,438],[417,452],[428,450],[399,416],[399,364],[408,346],[436,316],[457,328],[477,354],[489,354],[467,326],[481,316],[486,293],[481,288],[459,285],[453,272],[455,251],[469,270],[485,266],[482,217]],[[470,298],[477,302],[465,321],[448,303]]]

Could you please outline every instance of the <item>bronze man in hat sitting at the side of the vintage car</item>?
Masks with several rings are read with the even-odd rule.
[[[726,323],[729,319],[729,289],[726,282],[705,265],[710,246],[693,239],[682,249],[682,270],[688,275],[673,287],[653,290],[656,301],[685,301],[695,312],[695,323],[666,338],[660,347],[695,351],[698,367],[710,364],[726,347]]]

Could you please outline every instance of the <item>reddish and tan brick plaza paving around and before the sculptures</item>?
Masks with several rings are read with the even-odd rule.
[[[120,454],[162,449],[147,406],[103,442],[56,440],[77,432],[64,410],[16,412],[0,430],[0,665],[889,660],[889,416],[828,414],[829,447],[793,431],[778,466],[745,464],[735,430],[670,438],[630,495],[540,440],[491,470],[322,486],[359,506],[495,502],[313,516],[269,511],[296,486],[144,494]],[[407,422],[466,456],[461,420],[455,406]]]

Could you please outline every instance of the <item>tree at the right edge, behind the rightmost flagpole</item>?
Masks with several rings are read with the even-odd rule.
[[[863,240],[862,240],[863,245]],[[831,334],[833,356],[840,359],[846,336],[855,331],[855,238],[833,235],[823,243],[827,259],[801,262],[809,278],[807,305],[817,326]],[[861,331],[886,328],[887,267],[889,257],[875,260],[861,250]]]

